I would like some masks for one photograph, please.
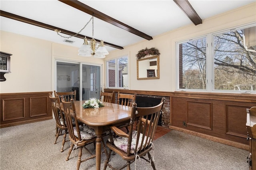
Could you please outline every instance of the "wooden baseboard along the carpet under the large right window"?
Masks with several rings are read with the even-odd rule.
[[[199,132],[194,132],[194,131],[191,131],[191,130],[186,130],[184,128],[179,128],[179,127],[174,127],[174,126],[169,126],[169,128],[172,129],[172,130],[177,130],[179,132],[184,132],[184,133],[187,133],[187,134],[192,134],[194,136],[198,136],[198,137],[201,137],[201,138],[212,140],[214,142],[219,142],[219,143],[226,144],[226,145],[229,145],[229,146],[234,146],[236,148],[240,148],[240,149],[243,149],[243,150],[248,150],[249,151],[249,149],[250,149],[250,146],[246,145],[246,144],[242,144],[242,143],[238,143],[238,142],[234,142],[234,141],[230,141],[230,140],[210,136],[210,135],[207,135],[207,134],[202,134],[202,133],[199,133]]]

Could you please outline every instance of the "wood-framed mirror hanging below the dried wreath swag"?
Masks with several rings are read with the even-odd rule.
[[[159,79],[159,55],[137,60],[137,80]]]

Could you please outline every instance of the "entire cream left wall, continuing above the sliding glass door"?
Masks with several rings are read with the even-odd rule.
[[[85,64],[104,64],[104,59],[78,56],[76,47],[10,32],[1,31],[0,34],[0,51],[12,54],[11,73],[6,73],[4,75],[6,81],[0,82],[0,93],[54,91],[56,59]],[[104,82],[104,79],[102,81]]]

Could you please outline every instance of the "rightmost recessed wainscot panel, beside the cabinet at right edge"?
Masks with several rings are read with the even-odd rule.
[[[246,109],[248,106],[226,105],[226,134],[247,137]],[[244,127],[244,128],[241,128]]]

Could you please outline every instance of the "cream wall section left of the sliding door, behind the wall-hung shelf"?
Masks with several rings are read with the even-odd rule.
[[[51,91],[51,43],[1,31],[0,51],[11,53],[0,93]]]

